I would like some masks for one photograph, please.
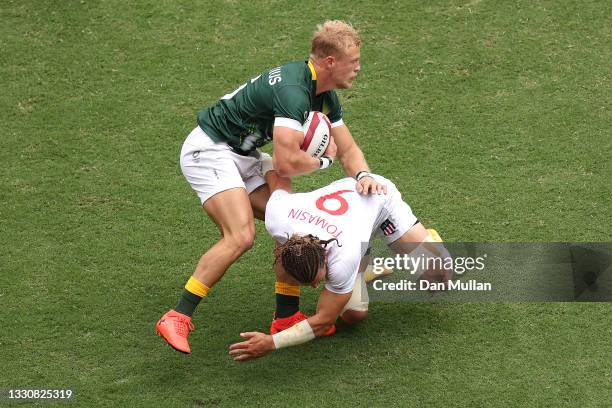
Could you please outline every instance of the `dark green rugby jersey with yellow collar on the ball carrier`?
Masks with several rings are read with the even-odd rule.
[[[342,106],[336,92],[316,95],[316,79],[308,61],[271,69],[198,112],[198,125],[215,142],[226,142],[239,153],[248,153],[272,140],[275,118],[303,124],[310,111],[319,111],[332,123],[341,120]]]

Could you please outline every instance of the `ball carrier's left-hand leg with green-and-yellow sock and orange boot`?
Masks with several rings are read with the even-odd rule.
[[[245,189],[217,193],[203,208],[219,227],[222,238],[200,258],[176,309],[162,316],[156,325],[157,333],[183,353],[191,352],[187,336],[193,329],[191,314],[196,306],[230,265],[253,246],[255,239],[253,210]]]

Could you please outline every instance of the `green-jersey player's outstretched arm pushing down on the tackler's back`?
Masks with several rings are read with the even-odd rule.
[[[338,158],[344,172],[349,177],[358,178],[359,176],[357,192],[364,195],[387,194],[387,186],[369,176],[368,163],[348,127],[346,125],[337,126],[332,129],[331,134],[338,146]]]

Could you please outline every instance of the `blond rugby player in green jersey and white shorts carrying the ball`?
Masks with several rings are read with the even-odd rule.
[[[360,70],[360,47],[353,27],[327,21],[314,34],[308,61],[266,71],[198,113],[198,126],[181,150],[181,169],[219,227],[221,239],[200,258],[178,305],[157,322],[157,333],[174,349],[191,352],[187,336],[195,308],[253,245],[254,217],[264,219],[270,197],[262,165],[273,165],[280,176],[293,177],[327,168],[338,158],[345,173],[357,179],[356,191],[386,193],[386,186],[369,176],[334,91],[352,86]],[[325,113],[332,125],[332,138],[321,159],[300,149],[302,126],[310,111]],[[257,150],[270,141],[271,159]],[[284,313],[299,302],[299,286],[277,282],[276,302],[280,324],[289,317]]]

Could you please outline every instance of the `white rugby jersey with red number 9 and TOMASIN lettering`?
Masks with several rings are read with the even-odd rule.
[[[383,177],[377,179],[392,186]],[[356,185],[355,179],[345,178],[309,193],[276,190],[266,206],[266,229],[280,243],[293,234],[338,240],[327,246],[325,283],[338,294],[353,290],[361,258],[388,215],[388,195],[362,196]],[[393,186],[389,195],[395,193]]]

